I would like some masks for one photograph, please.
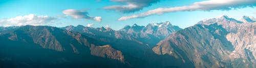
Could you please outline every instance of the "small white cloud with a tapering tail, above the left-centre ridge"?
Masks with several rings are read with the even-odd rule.
[[[84,10],[67,9],[62,11],[62,13],[65,14],[66,16],[71,16],[76,19],[83,18],[83,19],[90,19],[90,20],[101,22],[101,17],[88,16],[88,12]]]

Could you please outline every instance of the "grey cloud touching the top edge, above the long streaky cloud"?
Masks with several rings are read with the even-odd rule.
[[[103,7],[106,10],[115,10],[121,13],[132,13],[143,9],[144,7],[151,6],[160,0],[110,0],[111,2],[126,4],[126,5],[114,5]]]

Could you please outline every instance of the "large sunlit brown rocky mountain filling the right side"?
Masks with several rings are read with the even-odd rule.
[[[255,67],[256,24],[227,16],[206,19],[174,32],[153,51],[181,58],[196,67]],[[248,23],[248,22],[251,23]]]

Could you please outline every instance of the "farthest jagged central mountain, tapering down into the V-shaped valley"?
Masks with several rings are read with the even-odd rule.
[[[161,23],[150,23],[146,26],[138,26],[137,24],[134,24],[133,26],[126,25],[119,31],[127,32],[138,41],[146,43],[146,45],[150,47],[154,47],[159,41],[178,30],[181,30],[181,28],[166,21]]]

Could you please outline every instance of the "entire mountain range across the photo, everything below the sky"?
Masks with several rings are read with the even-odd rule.
[[[255,21],[0,27],[0,67],[255,67]]]

